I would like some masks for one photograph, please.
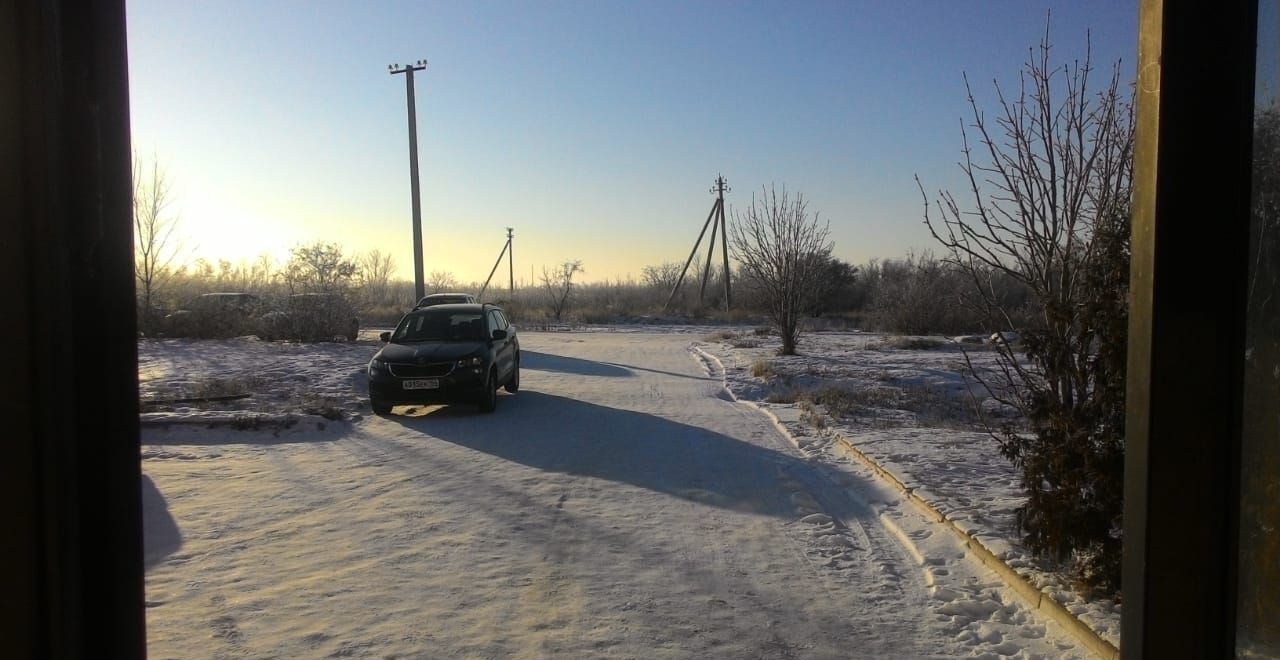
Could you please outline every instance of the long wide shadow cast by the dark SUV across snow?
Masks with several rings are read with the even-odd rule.
[[[470,405],[396,411],[410,414],[385,418],[547,472],[630,483],[786,519],[812,513],[792,504],[799,483],[828,514],[844,519],[873,515],[865,504],[827,487],[817,469],[800,458],[655,414],[529,390],[499,397],[493,414],[477,414]],[[762,417],[760,427],[767,426]]]

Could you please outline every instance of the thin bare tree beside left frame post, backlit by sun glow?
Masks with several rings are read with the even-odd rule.
[[[169,179],[152,159],[143,169],[133,156],[133,274],[138,287],[138,325],[145,334],[155,330],[156,301],[182,252],[175,238],[178,216],[169,212]]]

